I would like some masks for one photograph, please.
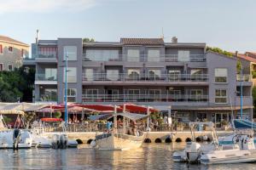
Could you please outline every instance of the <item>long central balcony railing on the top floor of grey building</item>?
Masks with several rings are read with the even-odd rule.
[[[178,54],[162,54],[148,57],[147,54],[140,54],[139,57],[128,56],[127,54],[102,55],[83,54],[84,61],[133,61],[133,62],[205,62],[205,54],[190,54],[189,58],[179,57]]]

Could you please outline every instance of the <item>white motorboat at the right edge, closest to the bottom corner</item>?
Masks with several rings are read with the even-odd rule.
[[[200,161],[202,164],[221,163],[246,163],[256,161],[256,150],[253,143],[253,131],[251,134],[236,133],[234,143],[222,145],[218,150],[212,150],[202,154]]]

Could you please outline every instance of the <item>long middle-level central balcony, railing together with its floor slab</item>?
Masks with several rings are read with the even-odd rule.
[[[147,75],[138,75],[138,74],[126,74],[119,73],[116,75],[108,75],[107,73],[95,73],[92,75],[83,74],[84,83],[137,83],[137,84],[202,84],[207,85],[208,75],[199,74],[199,75],[189,75],[189,74],[147,74]]]

